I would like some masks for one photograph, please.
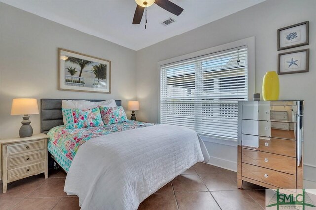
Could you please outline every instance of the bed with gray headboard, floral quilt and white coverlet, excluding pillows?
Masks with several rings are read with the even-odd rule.
[[[49,152],[68,172],[64,191],[77,195],[82,209],[135,210],[177,175],[209,159],[197,133],[180,126],[127,120],[65,131],[61,101],[41,100],[42,132],[50,136]]]

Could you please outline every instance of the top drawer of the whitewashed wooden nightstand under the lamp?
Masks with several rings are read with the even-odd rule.
[[[36,150],[43,150],[45,149],[44,140],[37,140],[37,141],[28,141],[28,142],[22,142],[22,143],[14,143],[9,144],[7,146],[8,150],[8,156],[17,154],[17,153],[23,153],[23,152],[30,152],[30,151],[36,151]]]

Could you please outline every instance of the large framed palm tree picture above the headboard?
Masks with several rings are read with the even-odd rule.
[[[110,93],[111,61],[58,49],[59,90]]]

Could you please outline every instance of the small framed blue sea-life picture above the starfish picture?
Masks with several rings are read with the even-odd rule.
[[[309,21],[277,30],[277,50],[285,50],[309,44]]]

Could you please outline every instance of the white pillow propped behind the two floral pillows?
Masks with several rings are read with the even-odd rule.
[[[115,103],[114,99],[109,99],[109,100],[100,101],[100,102],[90,102],[87,100],[62,100],[61,101],[61,108],[91,109],[98,106],[111,108],[111,107],[116,107],[117,104]],[[66,125],[66,120],[65,120],[64,115],[63,115],[63,122],[64,122],[64,125]]]

